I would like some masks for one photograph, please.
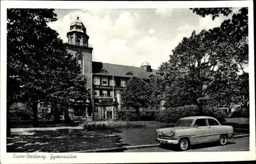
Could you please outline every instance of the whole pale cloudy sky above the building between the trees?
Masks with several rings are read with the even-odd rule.
[[[233,8],[237,13],[240,8]],[[67,42],[70,22],[77,19],[86,26],[93,46],[92,60],[140,67],[147,61],[152,69],[167,62],[172,50],[193,30],[209,30],[229,17],[201,17],[188,8],[156,9],[55,9],[57,21],[50,22]]]

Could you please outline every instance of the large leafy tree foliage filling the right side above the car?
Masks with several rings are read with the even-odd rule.
[[[201,16],[228,16],[230,8],[194,8]],[[165,106],[196,104],[203,113],[206,104],[230,108],[249,105],[248,9],[241,8],[220,27],[195,31],[173,50],[156,74],[156,86],[165,93]],[[242,100],[242,101],[241,101]]]

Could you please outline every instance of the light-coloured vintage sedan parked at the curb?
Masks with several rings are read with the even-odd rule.
[[[156,130],[156,141],[161,146],[176,144],[180,150],[187,150],[189,145],[216,142],[221,145],[233,137],[233,127],[221,123],[208,116],[181,118],[174,127]]]

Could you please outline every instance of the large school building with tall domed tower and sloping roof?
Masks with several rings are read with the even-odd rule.
[[[85,109],[75,109],[74,118],[80,120],[116,120],[122,110],[121,92],[133,76],[148,79],[156,73],[148,62],[140,67],[92,61],[93,48],[89,45],[86,27],[79,20],[71,22],[67,33],[67,52],[76,57],[91,91],[91,101]],[[77,111],[80,112],[77,112]]]

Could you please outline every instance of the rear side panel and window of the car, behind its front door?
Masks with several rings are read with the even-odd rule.
[[[214,119],[207,119],[211,131],[211,141],[218,141],[221,134],[221,125]]]

